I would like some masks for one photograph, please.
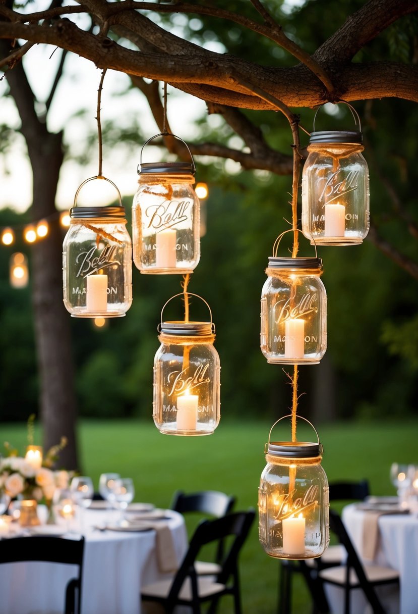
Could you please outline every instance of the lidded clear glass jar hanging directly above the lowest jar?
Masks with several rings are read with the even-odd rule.
[[[268,258],[261,293],[260,347],[267,362],[316,364],[327,349],[321,258]]]

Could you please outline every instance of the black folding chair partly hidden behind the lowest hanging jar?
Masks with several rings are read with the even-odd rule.
[[[367,480],[359,482],[341,481],[330,483],[330,502],[363,501],[370,494]],[[279,583],[279,614],[291,613],[292,576],[301,573],[313,600],[313,612],[327,612],[327,600],[321,583],[317,582],[317,574],[321,569],[341,565],[345,551],[341,545],[332,545],[325,550],[322,556],[306,561],[292,561],[283,559],[280,566]]]

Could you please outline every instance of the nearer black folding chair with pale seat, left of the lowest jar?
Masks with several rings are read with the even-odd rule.
[[[175,576],[170,580],[143,586],[142,599],[162,604],[167,614],[172,613],[176,605],[188,605],[193,614],[200,614],[200,605],[209,601],[208,614],[213,614],[218,600],[224,595],[232,595],[234,612],[241,614],[238,554],[248,536],[254,516],[255,512],[251,509],[216,520],[202,521],[191,538],[189,549]],[[195,562],[200,549],[208,543],[228,537],[232,538],[232,541],[226,548],[218,575],[215,578],[199,577]]]

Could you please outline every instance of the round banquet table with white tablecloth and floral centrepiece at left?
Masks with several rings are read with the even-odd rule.
[[[141,586],[171,574],[159,569],[155,530],[97,530],[107,514],[85,510],[82,614],[140,614]],[[172,510],[165,515],[180,564],[188,545],[184,519]],[[76,571],[70,565],[46,562],[2,564],[0,614],[62,614],[65,586]]]

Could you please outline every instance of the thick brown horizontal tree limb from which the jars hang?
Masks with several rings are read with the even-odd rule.
[[[0,23],[0,38],[22,38],[68,49],[93,61],[99,68],[175,84],[181,90],[210,102],[248,109],[269,109],[258,96],[248,95],[234,74],[251,82],[257,75],[259,87],[287,106],[315,106],[323,102],[323,90],[305,67],[258,66],[229,55],[196,47],[194,54],[173,56],[140,53],[112,42],[104,45],[74,23],[60,20],[50,28],[20,23]],[[346,100],[397,96],[418,101],[418,68],[402,63],[349,64],[333,68],[340,84],[339,96]]]

